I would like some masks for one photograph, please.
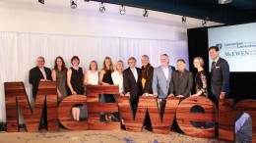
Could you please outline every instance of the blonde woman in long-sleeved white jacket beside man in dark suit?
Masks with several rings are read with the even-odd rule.
[[[111,73],[112,80],[114,84],[119,85],[119,93],[123,96],[123,61],[117,61],[114,70]]]

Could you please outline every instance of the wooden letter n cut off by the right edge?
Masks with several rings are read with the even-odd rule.
[[[256,143],[256,101],[242,100],[233,106],[233,100],[225,99],[219,102],[219,138],[234,141],[235,118],[246,113],[252,119],[252,142]]]

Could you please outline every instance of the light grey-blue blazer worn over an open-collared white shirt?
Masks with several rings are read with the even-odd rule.
[[[164,99],[168,95],[169,91],[169,82],[171,79],[171,72],[175,71],[175,68],[172,66],[168,66],[169,76],[166,79],[164,72],[161,69],[161,66],[154,69],[153,73],[153,82],[152,82],[152,89],[153,92],[158,92],[159,98]]]

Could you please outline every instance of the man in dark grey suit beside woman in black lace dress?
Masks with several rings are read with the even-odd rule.
[[[177,71],[172,71],[169,84],[169,96],[187,98],[193,87],[193,73],[185,69],[185,61],[177,61]]]

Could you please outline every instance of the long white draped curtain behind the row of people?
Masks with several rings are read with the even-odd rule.
[[[62,56],[69,68],[70,59],[76,55],[80,58],[80,67],[84,71],[89,70],[92,60],[96,60],[100,70],[105,56],[111,57],[113,65],[117,60],[123,60],[125,68],[128,67],[129,57],[135,57],[137,67],[140,68],[142,55],[148,55],[152,65],[157,67],[160,65],[162,53],[169,55],[172,66],[175,66],[176,60],[180,58],[188,62],[185,40],[0,32],[0,48],[0,121],[4,122],[6,121],[4,82],[23,81],[30,101],[33,102],[29,71],[36,66],[38,56],[43,56],[45,67],[52,69],[57,56]]]

